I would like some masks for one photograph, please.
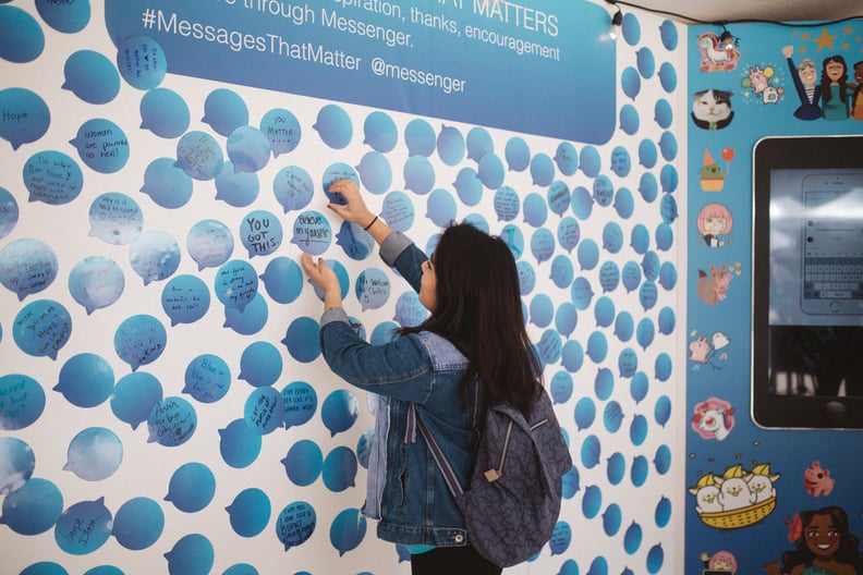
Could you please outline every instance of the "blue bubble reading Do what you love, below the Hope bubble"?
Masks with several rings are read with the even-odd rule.
[[[34,154],[24,164],[24,185],[29,201],[61,206],[75,199],[84,186],[77,162],[61,151]]]

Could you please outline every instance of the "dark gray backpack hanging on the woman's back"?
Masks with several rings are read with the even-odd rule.
[[[543,390],[530,420],[508,404],[488,409],[471,485],[465,490],[428,431],[416,423],[464,515],[467,542],[508,567],[535,555],[560,515],[561,482],[572,468],[551,400]]]

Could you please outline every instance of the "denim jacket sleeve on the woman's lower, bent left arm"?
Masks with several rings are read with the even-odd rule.
[[[360,389],[417,403],[432,393],[432,360],[415,334],[372,345],[354,332],[344,309],[335,307],[321,316],[320,350],[330,369]]]

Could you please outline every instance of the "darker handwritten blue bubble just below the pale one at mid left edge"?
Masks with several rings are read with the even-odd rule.
[[[57,359],[72,334],[72,317],[62,304],[38,299],[24,306],[13,321],[12,338],[27,355]]]

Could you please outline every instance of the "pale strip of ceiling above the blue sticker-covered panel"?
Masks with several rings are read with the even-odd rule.
[[[607,0],[609,1],[609,0]],[[613,3],[613,1],[611,2]],[[773,22],[824,22],[863,17],[861,0],[619,0],[624,7],[669,12],[672,20],[684,23],[766,20]],[[671,14],[680,14],[677,17]]]

